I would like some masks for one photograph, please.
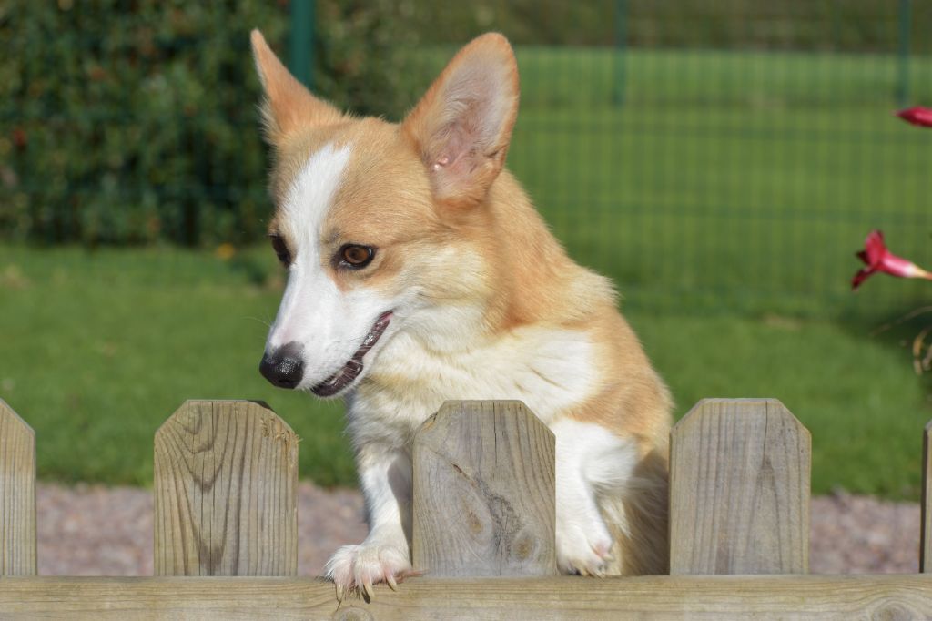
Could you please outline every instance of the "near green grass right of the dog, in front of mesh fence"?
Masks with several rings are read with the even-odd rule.
[[[627,314],[678,416],[704,397],[778,398],[812,433],[815,493],[918,499],[932,408],[898,334],[778,315]]]

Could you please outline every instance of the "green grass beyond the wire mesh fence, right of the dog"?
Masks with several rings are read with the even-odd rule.
[[[633,306],[826,317],[925,297],[923,283],[848,291],[871,228],[932,265],[932,131],[893,117],[895,57],[528,48],[518,59],[510,166],[574,256],[637,292]],[[911,75],[911,101],[932,103],[932,59],[914,57]]]

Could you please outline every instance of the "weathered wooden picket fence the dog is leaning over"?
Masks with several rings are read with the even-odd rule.
[[[925,573],[809,575],[810,438],[775,400],[706,399],[671,435],[671,575],[556,576],[554,436],[514,401],[450,402],[414,448],[397,593],[296,577],[297,438],[265,404],[188,401],[155,438],[154,577],[35,576],[34,435],[0,401],[0,618],[932,618]]]

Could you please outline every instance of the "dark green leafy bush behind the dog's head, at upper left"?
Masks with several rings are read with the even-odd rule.
[[[399,114],[412,39],[400,10],[316,4],[317,90]],[[249,32],[287,62],[288,25],[287,3],[259,0],[0,4],[0,239],[261,237],[270,205]]]

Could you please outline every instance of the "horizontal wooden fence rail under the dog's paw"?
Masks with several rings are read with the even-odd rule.
[[[313,578],[7,578],[4,619],[927,619],[932,575],[414,578],[371,603]]]

